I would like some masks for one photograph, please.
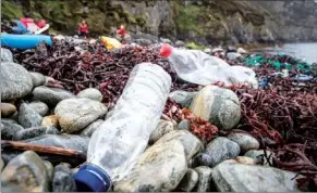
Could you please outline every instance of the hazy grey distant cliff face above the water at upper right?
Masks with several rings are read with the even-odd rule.
[[[279,25],[268,25],[281,41],[317,41],[317,1],[255,1]]]

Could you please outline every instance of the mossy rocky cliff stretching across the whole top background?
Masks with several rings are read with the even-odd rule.
[[[212,44],[317,40],[314,1],[2,0],[1,8],[4,20],[28,13],[63,34],[86,16],[92,35],[124,24],[132,34]]]

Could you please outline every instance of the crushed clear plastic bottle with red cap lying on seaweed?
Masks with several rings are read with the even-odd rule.
[[[207,86],[223,82],[225,86],[249,83],[258,87],[253,69],[244,66],[230,66],[223,60],[199,50],[179,50],[163,44],[160,55],[169,59],[171,70],[188,82]]]

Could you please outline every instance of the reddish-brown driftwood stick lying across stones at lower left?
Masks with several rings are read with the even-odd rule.
[[[56,155],[63,155],[63,156],[71,156],[71,157],[78,157],[78,158],[86,159],[86,155],[80,151],[75,151],[71,149],[62,149],[62,147],[57,147],[57,146],[31,144],[31,143],[17,142],[17,141],[1,140],[1,149],[34,151],[38,153],[56,154]]]

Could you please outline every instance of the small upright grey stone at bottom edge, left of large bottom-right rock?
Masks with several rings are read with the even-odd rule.
[[[198,182],[194,192],[209,192],[212,170],[207,166],[199,166],[195,168],[195,171],[198,173]]]

